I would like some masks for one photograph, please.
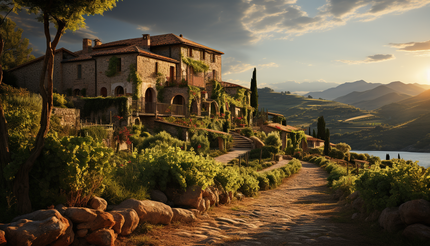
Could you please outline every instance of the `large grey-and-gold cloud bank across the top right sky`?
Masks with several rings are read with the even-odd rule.
[[[241,23],[255,40],[281,34],[280,39],[312,31],[326,31],[349,21],[372,21],[390,13],[421,8],[430,0],[326,0],[310,17],[297,0],[252,0],[243,11]],[[284,36],[282,36],[284,34]],[[285,36],[286,34],[286,36]]]

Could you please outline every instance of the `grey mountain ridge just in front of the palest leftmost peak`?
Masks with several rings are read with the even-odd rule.
[[[373,100],[375,98],[381,97],[385,94],[392,93],[392,92],[402,94],[402,92],[398,90],[391,89],[390,87],[387,87],[385,85],[380,85],[371,90],[365,90],[361,92],[353,91],[351,93],[346,94],[345,96],[335,98],[334,101],[339,103],[353,104],[353,103],[358,103],[365,100]]]

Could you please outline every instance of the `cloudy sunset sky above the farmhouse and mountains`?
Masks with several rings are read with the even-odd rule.
[[[123,0],[85,16],[57,48],[173,33],[223,51],[222,80],[246,87],[254,67],[258,87],[298,94],[358,80],[430,84],[429,13],[430,0]],[[8,17],[42,56],[43,24]]]

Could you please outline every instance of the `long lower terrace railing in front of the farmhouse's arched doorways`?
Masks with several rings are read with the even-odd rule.
[[[134,114],[157,114],[160,115],[185,115],[183,105],[167,103],[150,103],[141,100],[132,100],[132,111]]]

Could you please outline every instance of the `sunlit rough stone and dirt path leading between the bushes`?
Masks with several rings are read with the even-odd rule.
[[[344,204],[329,194],[326,171],[302,165],[276,190],[218,206],[192,225],[166,228],[171,236],[153,237],[163,238],[159,245],[369,245],[356,225],[331,218]]]

